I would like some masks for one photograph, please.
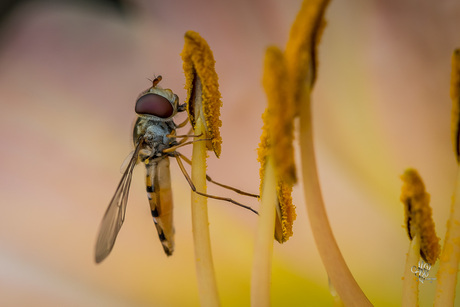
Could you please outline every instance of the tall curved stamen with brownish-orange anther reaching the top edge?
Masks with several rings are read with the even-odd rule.
[[[310,92],[316,79],[316,46],[324,28],[328,0],[304,1],[291,28],[286,60],[300,115],[300,152],[307,212],[316,246],[333,287],[346,306],[371,306],[343,259],[321,195],[313,147]]]

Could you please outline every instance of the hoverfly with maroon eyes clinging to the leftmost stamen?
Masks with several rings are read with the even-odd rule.
[[[230,198],[213,196],[196,190],[190,176],[185,171],[181,159],[190,161],[176,151],[177,148],[193,143],[186,142],[188,137],[194,135],[176,135],[176,128],[185,126],[188,119],[176,125],[173,117],[185,111],[186,104],[179,104],[179,98],[169,89],[158,86],[162,77],[158,76],[152,81],[152,86],[142,92],[136,101],[135,112],[138,115],[133,131],[134,151],[128,157],[128,164],[118,184],[112,200],[104,214],[96,241],[96,263],[103,261],[112,251],[118,232],[125,219],[126,205],[128,202],[129,188],[134,167],[138,163],[146,167],[147,197],[150,210],[158,232],[158,237],[166,255],[174,251],[174,226],[173,202],[171,191],[171,176],[169,171],[169,157],[176,158],[178,165],[187,179],[191,189],[200,195],[232,202],[257,214],[254,209],[242,205]],[[176,138],[183,138],[177,141]],[[202,139],[208,140],[208,139]],[[237,193],[259,197],[238,189],[217,183],[209,176],[207,180]]]

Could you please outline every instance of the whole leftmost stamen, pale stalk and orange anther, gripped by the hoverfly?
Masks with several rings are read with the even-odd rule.
[[[213,150],[219,157],[222,143],[219,132],[222,125],[219,118],[222,102],[217,73],[214,70],[215,61],[206,41],[193,31],[185,34],[181,55],[186,79],[187,112],[195,134],[202,135],[193,143],[191,181],[196,190],[206,193],[206,150]],[[201,305],[218,306],[220,304],[211,254],[207,198],[195,192],[192,192],[192,232]]]

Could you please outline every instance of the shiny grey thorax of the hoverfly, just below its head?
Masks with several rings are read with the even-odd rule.
[[[144,145],[141,148],[141,158],[155,158],[163,156],[162,152],[175,145],[174,137],[167,137],[175,131],[175,125],[172,120],[161,121],[139,117],[134,125],[133,142],[134,146],[140,137],[144,138]]]

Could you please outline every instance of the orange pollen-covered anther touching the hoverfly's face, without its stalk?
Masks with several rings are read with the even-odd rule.
[[[215,60],[207,42],[194,31],[185,33],[185,44],[182,51],[185,73],[185,89],[187,89],[187,112],[195,127],[196,117],[202,117],[206,129],[207,149],[213,150],[218,157],[221,152],[220,108],[222,106],[219,92],[218,76],[215,71]]]

